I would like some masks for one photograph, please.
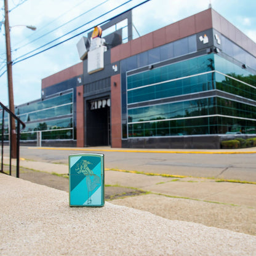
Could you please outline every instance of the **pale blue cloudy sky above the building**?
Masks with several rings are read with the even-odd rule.
[[[14,62],[12,66],[14,104],[21,105],[41,98],[41,79],[81,62],[76,44],[82,36],[87,36],[86,30],[143,1],[8,0],[10,41]],[[121,4],[123,5],[117,8]],[[206,10],[209,4],[256,42],[255,0],[151,0],[133,10],[133,24],[140,36],[143,36]],[[2,25],[4,0],[0,0],[0,6],[0,102],[8,105],[7,73],[4,73],[6,44],[4,25]],[[102,17],[97,18],[99,16]],[[33,25],[37,29],[32,31],[20,25]],[[73,32],[69,33],[70,31]],[[82,33],[83,31],[86,32]],[[78,33],[82,34],[46,50]],[[134,38],[137,37],[138,34],[134,30]],[[45,51],[23,60],[41,50]],[[28,54],[29,52],[31,53]]]

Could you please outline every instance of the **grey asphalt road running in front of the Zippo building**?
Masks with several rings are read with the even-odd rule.
[[[238,153],[238,150],[236,154],[233,154],[234,151],[209,150],[198,150],[197,153],[196,150],[162,150],[164,153],[159,151],[161,150],[21,146],[20,157],[34,161],[68,164],[69,154],[103,153],[105,168],[108,169],[256,182],[256,148],[244,150],[244,153]],[[7,150],[6,152],[5,155],[8,154]]]

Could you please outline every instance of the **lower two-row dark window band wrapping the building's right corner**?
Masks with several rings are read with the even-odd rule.
[[[227,132],[256,133],[256,106],[212,97],[128,110],[129,137]]]

